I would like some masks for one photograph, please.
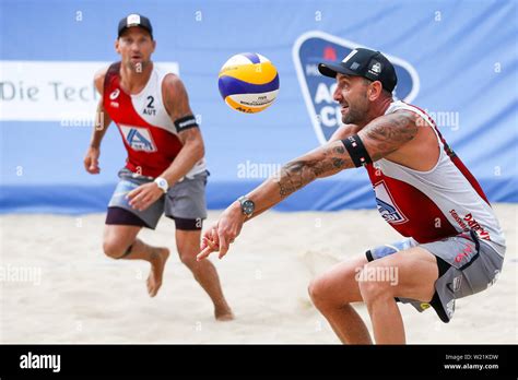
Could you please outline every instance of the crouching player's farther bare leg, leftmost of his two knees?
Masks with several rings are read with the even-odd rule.
[[[356,275],[365,263],[366,258],[339,263],[309,285],[313,302],[342,343],[373,343],[367,326],[350,305],[362,301]]]

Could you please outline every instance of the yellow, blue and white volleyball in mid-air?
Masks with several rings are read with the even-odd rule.
[[[270,107],[279,93],[273,63],[256,52],[242,52],[223,64],[217,80],[220,94],[233,109],[246,114]]]

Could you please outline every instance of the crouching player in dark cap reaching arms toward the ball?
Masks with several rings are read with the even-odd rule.
[[[223,257],[246,219],[313,180],[363,166],[379,213],[405,239],[337,264],[311,282],[309,294],[342,342],[372,342],[351,306],[363,301],[375,342],[404,343],[397,301],[419,311],[432,307],[448,322],[457,298],[496,281],[505,238],[481,187],[432,118],[392,99],[397,75],[382,54],[357,48],[341,62],[320,63],[319,71],[335,78],[333,97],[345,126],[231,204],[204,233],[198,259],[214,251]],[[343,234],[362,234],[362,226]]]

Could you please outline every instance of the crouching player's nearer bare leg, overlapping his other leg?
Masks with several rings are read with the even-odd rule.
[[[397,271],[395,271],[397,269]],[[435,257],[423,248],[414,247],[368,263],[364,271],[384,273],[360,281],[360,292],[367,304],[377,344],[404,344],[404,326],[393,297],[428,302],[438,277]],[[397,273],[387,280],[387,273]],[[370,272],[370,273],[375,273]],[[366,277],[367,278],[367,277]],[[370,280],[374,278],[374,280]]]

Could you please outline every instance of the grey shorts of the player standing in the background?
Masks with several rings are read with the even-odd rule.
[[[193,224],[196,228],[180,229],[201,229],[202,221],[207,218],[205,205],[205,185],[208,171],[195,175],[192,178],[184,177],[181,181],[176,182],[169,188],[166,194],[149,206],[144,211],[132,209],[126,195],[131,190],[148,182],[153,178],[139,176],[127,168],[119,171],[119,182],[115,188],[111,200],[108,204],[108,217],[106,224],[132,224],[125,223],[123,217],[109,217],[113,209],[123,209],[143,222],[143,226],[155,229],[162,214],[175,219],[177,228],[178,222]],[[120,221],[120,222],[119,222]]]

